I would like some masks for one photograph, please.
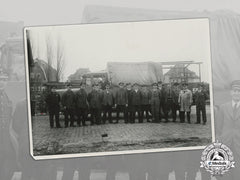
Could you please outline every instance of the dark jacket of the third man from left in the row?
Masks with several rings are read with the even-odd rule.
[[[87,92],[84,89],[79,89],[75,95],[76,108],[88,108]]]

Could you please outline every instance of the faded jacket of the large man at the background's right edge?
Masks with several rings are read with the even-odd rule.
[[[216,135],[217,139],[231,147],[240,149],[240,107],[234,112],[232,102],[220,106],[216,113]]]

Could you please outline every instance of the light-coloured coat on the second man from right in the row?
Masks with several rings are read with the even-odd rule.
[[[190,111],[192,104],[192,92],[189,89],[180,91],[178,102],[180,111]]]

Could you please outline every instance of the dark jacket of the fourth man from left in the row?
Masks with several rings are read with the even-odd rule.
[[[88,95],[90,108],[100,109],[102,105],[102,91],[92,90]]]

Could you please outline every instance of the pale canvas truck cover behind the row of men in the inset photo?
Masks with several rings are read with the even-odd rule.
[[[109,81],[114,85],[119,82],[151,85],[163,80],[162,65],[159,62],[108,62]]]

